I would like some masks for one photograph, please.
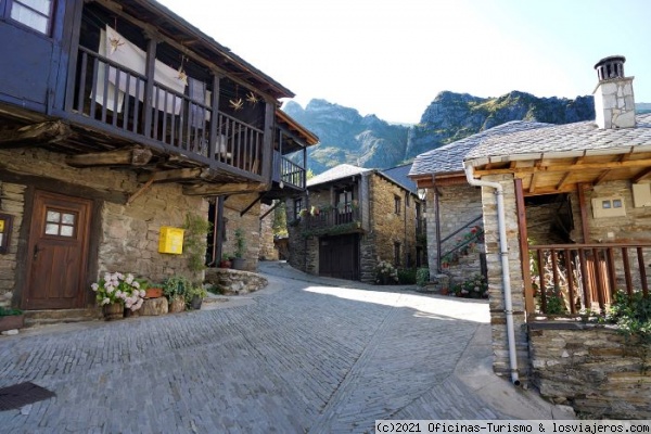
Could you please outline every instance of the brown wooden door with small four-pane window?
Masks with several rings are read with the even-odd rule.
[[[37,191],[29,227],[25,309],[84,307],[92,202]]]

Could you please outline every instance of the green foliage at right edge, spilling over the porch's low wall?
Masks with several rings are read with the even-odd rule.
[[[644,296],[638,291],[629,297],[624,291],[617,291],[605,322],[616,324],[624,335],[638,335],[651,343],[651,295]]]

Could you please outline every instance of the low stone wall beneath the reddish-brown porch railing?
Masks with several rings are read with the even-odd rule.
[[[529,324],[532,381],[592,419],[651,419],[651,346],[584,323]]]

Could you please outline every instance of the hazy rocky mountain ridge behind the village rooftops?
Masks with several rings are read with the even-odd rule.
[[[315,132],[320,143],[308,151],[309,168],[320,174],[341,163],[388,168],[414,156],[509,120],[567,124],[595,118],[592,97],[537,98],[512,91],[478,98],[444,91],[427,106],[418,125],[390,124],[355,108],[311,100],[305,108],[290,101],[283,111]]]

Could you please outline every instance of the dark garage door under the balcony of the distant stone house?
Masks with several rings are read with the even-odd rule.
[[[321,238],[319,275],[359,280],[359,234]]]

